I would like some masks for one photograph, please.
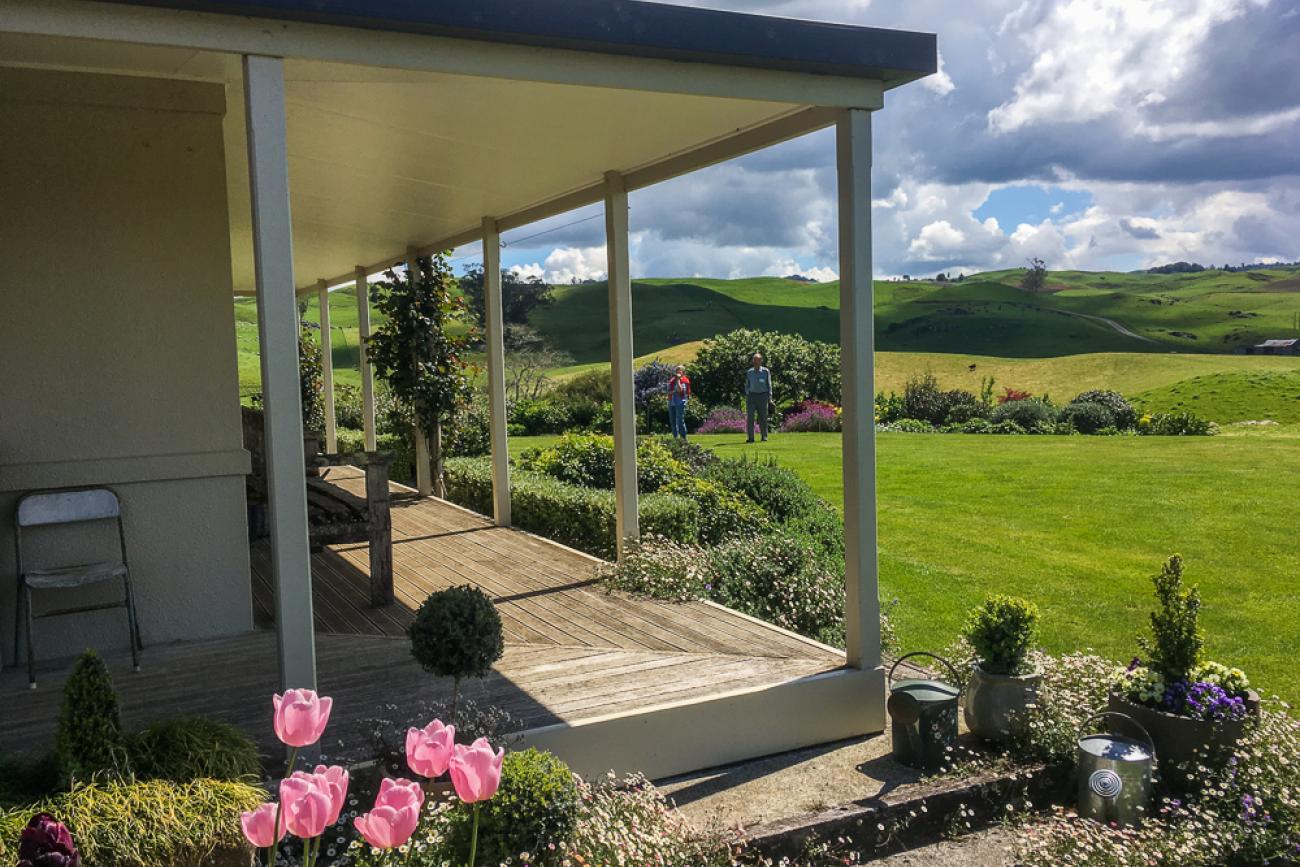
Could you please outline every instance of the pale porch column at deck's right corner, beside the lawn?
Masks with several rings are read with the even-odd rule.
[[[871,309],[871,112],[836,125],[840,188],[840,354],[844,377],[845,642],[849,664],[880,666],[876,565],[875,333]],[[884,727],[883,708],[881,719]]]

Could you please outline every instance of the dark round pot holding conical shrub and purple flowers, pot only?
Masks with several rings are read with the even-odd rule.
[[[1197,764],[1217,764],[1232,753],[1247,727],[1260,716],[1260,697],[1253,690],[1247,695],[1245,708],[1247,716],[1243,720],[1214,723],[1167,714],[1130,702],[1115,693],[1110,694],[1106,703],[1106,710],[1131,716],[1150,732],[1150,740],[1160,754],[1161,780],[1174,792],[1196,788]]]

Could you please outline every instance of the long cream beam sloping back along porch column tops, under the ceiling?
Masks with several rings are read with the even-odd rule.
[[[780,144],[781,142],[788,142],[801,135],[807,135],[809,133],[815,133],[816,130],[832,126],[836,117],[838,117],[838,113],[840,112],[837,109],[822,107],[794,110],[789,114],[777,117],[776,120],[766,121],[720,139],[703,142],[697,147],[688,148],[680,153],[673,153],[662,160],[637,166],[624,173],[624,186],[629,192],[642,190],[645,187],[654,186],[655,183],[670,181],[710,165],[725,162],[727,160],[753,153],[754,151],[760,151],[766,147]],[[578,187],[577,190],[571,190],[569,192],[558,195],[552,199],[528,205],[526,208],[511,212],[503,217],[498,217],[497,230],[498,233],[502,233],[510,231],[511,229],[519,229],[520,226],[534,224],[538,220],[545,220],[547,217],[567,213],[576,208],[595,204],[603,199],[604,181],[601,181],[585,187]],[[478,240],[482,240],[482,226],[473,226],[458,231],[456,234],[441,238],[433,243],[421,244],[416,248],[416,252],[421,256],[432,256],[436,252],[455,250],[463,244],[472,244]],[[391,256],[368,265],[367,269],[373,274],[387,270],[389,268],[399,265],[403,261],[406,261],[403,256]],[[341,274],[330,278],[328,282],[333,286],[351,278],[351,274]],[[303,289],[303,291],[309,291],[309,289]]]

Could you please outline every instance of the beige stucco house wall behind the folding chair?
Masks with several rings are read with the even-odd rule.
[[[252,625],[224,112],[214,84],[0,69],[9,663],[13,506],[34,487],[118,491],[146,643]],[[60,558],[100,543],[46,542],[42,556]],[[124,647],[124,623],[121,611],[40,621],[38,654]]]

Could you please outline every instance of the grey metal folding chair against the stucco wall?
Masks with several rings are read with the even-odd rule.
[[[92,521],[114,521],[117,524],[117,556],[95,563],[78,563],[52,568],[27,568],[23,565],[23,532],[30,536],[34,528],[53,528],[69,524]],[[126,624],[130,629],[131,663],[140,669],[139,651],[140,628],[135,619],[135,597],[131,594],[131,573],[126,567],[126,532],[122,528],[122,506],[117,494],[107,487],[84,487],[78,490],[32,491],[18,500],[14,513],[14,551],[18,562],[18,604],[14,611],[13,658],[18,659],[20,633],[26,625],[27,637],[27,684],[36,688],[36,653],[32,641],[32,627],[36,620],[56,617],[84,611],[104,611],[107,608],[126,608]],[[100,604],[57,608],[34,614],[31,594],[56,590],[73,590],[105,581],[122,580],[122,599]]]

